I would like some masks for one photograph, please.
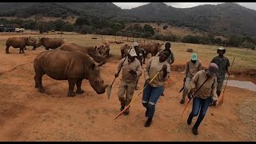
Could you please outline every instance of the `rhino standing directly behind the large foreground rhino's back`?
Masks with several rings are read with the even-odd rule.
[[[106,59],[106,56],[102,56],[98,53],[97,46],[78,46],[75,43],[65,43],[62,46],[59,47],[59,50],[65,50],[65,51],[74,51],[79,50],[82,51],[84,54],[90,55],[91,58],[94,58],[94,61],[96,62],[104,62]]]

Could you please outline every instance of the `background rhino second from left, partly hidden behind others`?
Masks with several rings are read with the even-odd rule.
[[[56,49],[62,46],[65,42],[61,38],[39,38],[39,43],[46,47],[46,50]]]

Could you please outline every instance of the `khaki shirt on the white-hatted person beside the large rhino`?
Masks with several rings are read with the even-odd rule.
[[[122,62],[125,60],[125,58],[122,58],[122,60],[118,63],[118,69],[116,70],[115,74],[118,74],[118,70],[122,66],[122,78],[121,80],[125,82],[134,82],[136,81],[141,75],[142,75],[142,66],[141,63],[138,61],[137,58],[135,58],[134,62],[128,62],[128,58],[126,58],[126,61],[122,64]],[[136,75],[130,74],[129,71],[134,70],[136,71]]]

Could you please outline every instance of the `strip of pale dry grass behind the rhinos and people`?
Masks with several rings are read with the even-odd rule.
[[[12,36],[22,36],[21,34],[4,34],[0,36],[0,46],[5,48],[6,39]],[[94,35],[94,34],[73,34],[73,33],[65,33],[65,34],[23,34],[23,36],[31,36],[34,38],[40,37],[49,37],[49,38],[63,38],[65,42],[74,42],[81,46],[98,46],[102,39],[108,39],[110,41],[122,41],[126,42],[126,37],[117,37],[108,36],[108,35]],[[92,38],[97,39],[92,39]],[[129,38],[130,45],[132,45],[133,38]],[[137,41],[137,38],[134,38],[134,41]],[[143,42],[143,39],[142,39]],[[151,41],[151,42],[161,42],[161,41]],[[162,43],[162,42],[161,42]],[[120,47],[122,44],[111,43],[110,44],[110,54],[114,56],[114,58],[120,58]],[[42,48],[39,47],[39,48]],[[164,48],[164,46],[162,46]],[[180,42],[172,42],[171,50],[174,52],[175,62],[174,65],[185,65],[186,61],[191,57],[191,53],[186,52],[187,48],[192,48],[195,53],[198,54],[198,58],[202,61],[203,66],[207,66],[212,58],[217,56],[218,46],[208,46],[208,45],[198,45],[198,44],[189,44],[189,43],[180,43]],[[234,47],[226,48],[226,57],[230,59],[230,64],[234,60],[234,70],[248,70],[255,69],[256,63],[256,50],[248,50],[239,49]],[[111,58],[111,59],[114,59]]]

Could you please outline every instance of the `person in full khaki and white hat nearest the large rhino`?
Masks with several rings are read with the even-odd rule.
[[[136,57],[137,54],[135,50],[131,49],[128,58],[122,58],[118,63],[118,69],[114,74],[115,77],[118,77],[118,71],[122,68],[122,78],[120,79],[118,89],[118,99],[121,102],[121,111],[131,102],[137,79],[142,75],[142,66]],[[128,115],[129,109],[130,107],[123,114]]]

